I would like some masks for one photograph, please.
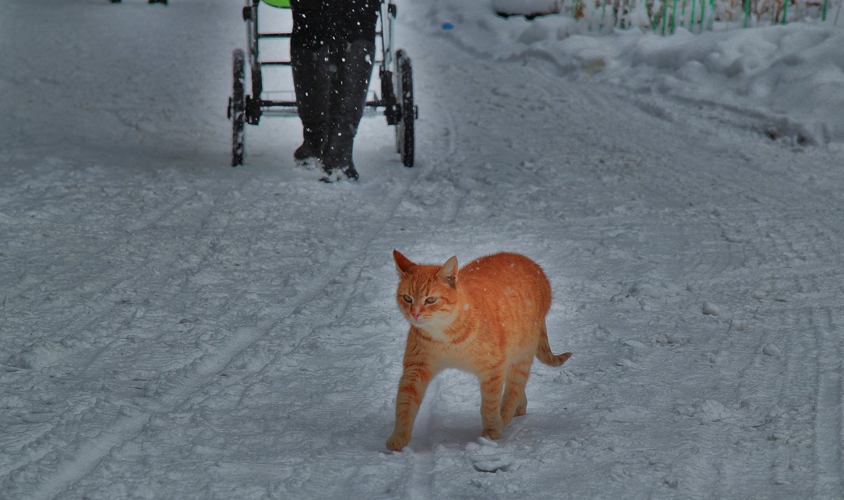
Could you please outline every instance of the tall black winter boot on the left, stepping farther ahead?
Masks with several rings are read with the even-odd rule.
[[[300,166],[308,169],[319,164],[328,119],[328,49],[317,51],[302,46],[290,46],[290,66],[296,107],[302,121],[302,145],[293,153]]]

